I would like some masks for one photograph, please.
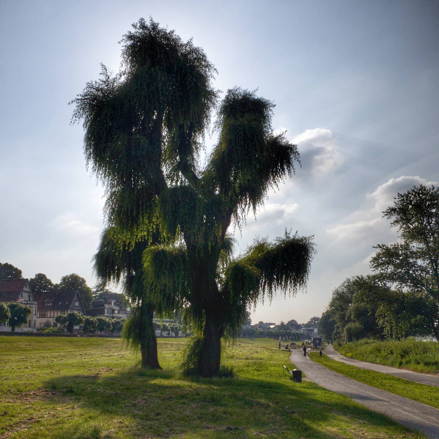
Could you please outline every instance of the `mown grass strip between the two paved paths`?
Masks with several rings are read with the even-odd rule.
[[[331,369],[331,371],[439,409],[439,389],[437,387],[408,381],[392,375],[382,374],[381,372],[360,369],[350,364],[332,360],[326,355],[320,357],[317,352],[310,352],[309,357],[327,369]]]

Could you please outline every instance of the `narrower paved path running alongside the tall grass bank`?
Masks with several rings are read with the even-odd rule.
[[[368,369],[370,371],[381,372],[383,374],[394,375],[406,380],[415,381],[421,384],[434,385],[439,387],[439,375],[421,374],[419,372],[407,371],[406,369],[398,369],[397,367],[382,366],[381,364],[366,363],[365,361],[354,360],[339,354],[332,346],[325,346],[324,353],[333,360],[342,363],[351,364],[360,369]]]

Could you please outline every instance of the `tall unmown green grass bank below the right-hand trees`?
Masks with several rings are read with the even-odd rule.
[[[439,372],[439,343],[405,340],[361,340],[344,345],[334,344],[339,353],[356,360],[386,366],[402,367],[416,372]]]

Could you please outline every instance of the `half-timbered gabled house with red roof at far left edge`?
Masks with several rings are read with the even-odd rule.
[[[29,279],[3,279],[0,280],[0,302],[6,304],[18,302],[30,306],[32,313],[27,324],[15,328],[17,332],[35,331],[37,302],[30,288]],[[0,331],[11,331],[7,324],[0,325]]]

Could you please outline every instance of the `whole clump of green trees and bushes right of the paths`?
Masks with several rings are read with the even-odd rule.
[[[319,329],[327,339],[439,340],[439,188],[398,194],[384,216],[398,227],[393,245],[377,245],[373,275],[346,279],[332,292]]]

